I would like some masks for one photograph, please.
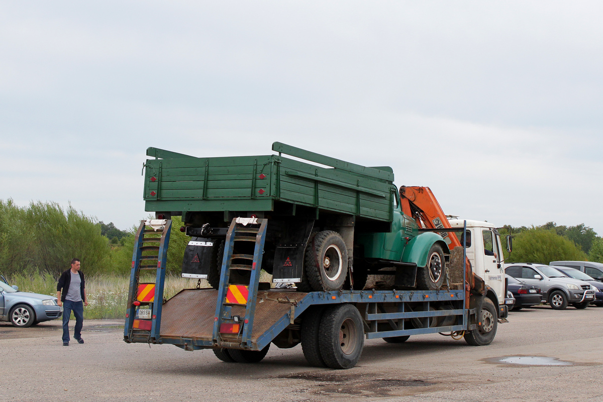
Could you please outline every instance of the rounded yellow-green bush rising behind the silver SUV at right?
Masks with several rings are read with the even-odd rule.
[[[586,259],[586,254],[576,243],[559,236],[554,230],[532,228],[514,236],[513,252],[507,261],[548,264],[558,260]]]

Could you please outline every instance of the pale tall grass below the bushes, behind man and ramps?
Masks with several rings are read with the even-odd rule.
[[[7,278],[11,285],[19,286],[21,292],[34,292],[43,295],[57,295],[57,281],[50,274],[22,275],[14,274]],[[141,281],[147,281],[144,277]],[[148,281],[151,278],[148,278]],[[122,319],[125,318],[130,278],[125,275],[96,275],[86,277],[88,306],[84,307],[84,319]],[[166,275],[163,296],[171,298],[182,289],[197,286],[197,280]],[[201,287],[209,287],[201,280]]]

